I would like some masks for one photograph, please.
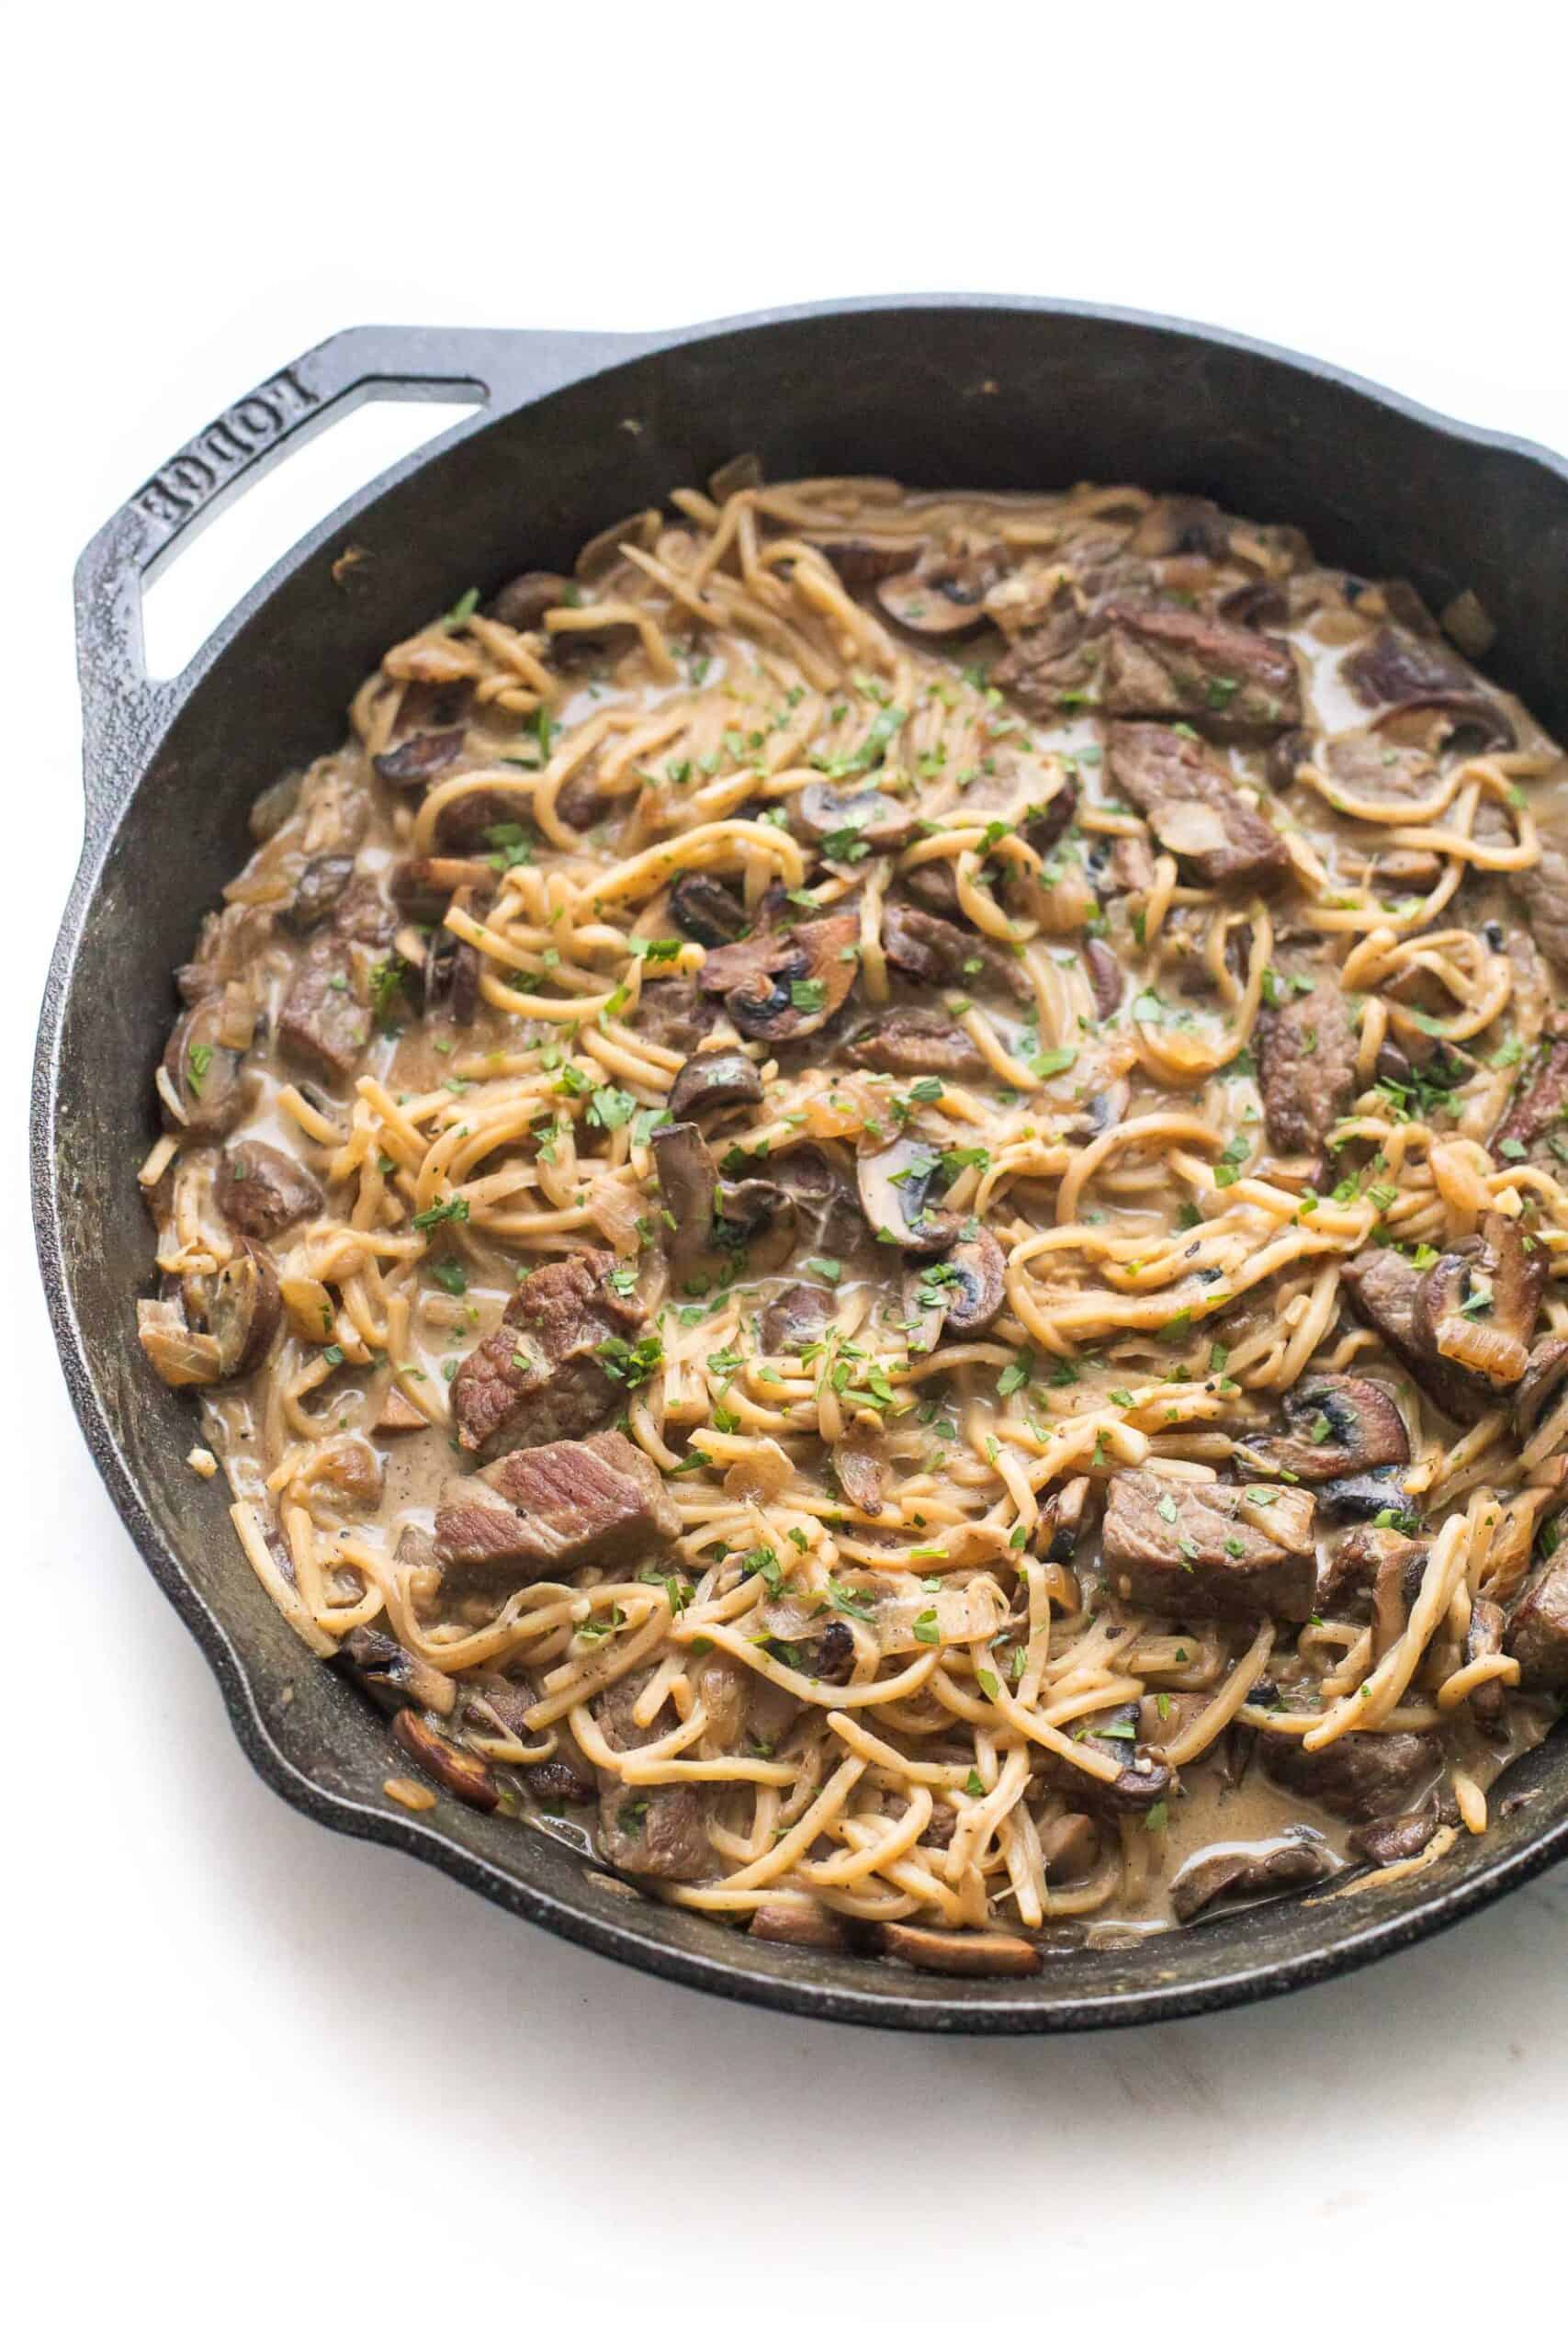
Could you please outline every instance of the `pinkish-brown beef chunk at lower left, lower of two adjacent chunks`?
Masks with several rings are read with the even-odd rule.
[[[435,1515],[449,1595],[501,1597],[592,1562],[644,1559],[679,1531],[654,1463],[618,1430],[524,1446],[465,1479]]]

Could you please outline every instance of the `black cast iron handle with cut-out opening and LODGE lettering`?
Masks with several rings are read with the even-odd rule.
[[[82,689],[87,847],[125,807],[153,748],[214,659],[219,630],[179,677],[150,680],[141,644],[141,588],[230,499],[287,449],[369,397],[451,400],[480,407],[440,447],[480,430],[498,409],[541,397],[644,348],[642,336],[350,327],[235,400],[127,499],[75,567],[75,652]],[[418,452],[423,459],[428,449]],[[367,485],[360,496],[371,496]]]

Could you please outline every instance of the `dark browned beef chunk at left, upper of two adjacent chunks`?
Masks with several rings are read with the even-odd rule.
[[[623,1390],[607,1369],[616,1343],[644,1322],[642,1301],[609,1287],[607,1249],[541,1265],[512,1291],[501,1329],[463,1359],[451,1383],[458,1444],[491,1461],[517,1444],[581,1437]]]

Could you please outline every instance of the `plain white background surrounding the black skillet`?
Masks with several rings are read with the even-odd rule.
[[[656,327],[971,287],[1215,320],[1563,449],[1561,12],[21,24],[0,143],[12,2340],[1519,2326],[1533,2267],[1561,2267],[1568,1872],[1284,2004],[938,2046],[644,1983],[334,1839],[252,1778],[96,1484],[21,1124],[80,821],[73,555],[280,362],[362,320]],[[270,532],[348,487],[306,477]],[[230,532],[205,593],[282,543]]]

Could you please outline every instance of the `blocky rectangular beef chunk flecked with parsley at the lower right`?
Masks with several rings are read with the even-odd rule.
[[[1103,1562],[1110,1590],[1135,1609],[1305,1625],[1316,1585],[1312,1496],[1117,1470],[1105,1496]]]

